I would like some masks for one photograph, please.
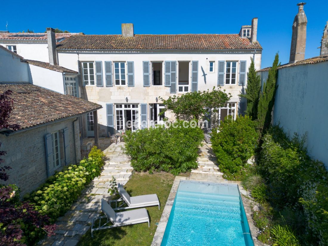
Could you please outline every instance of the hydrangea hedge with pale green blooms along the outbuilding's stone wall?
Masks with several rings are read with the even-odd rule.
[[[88,159],[81,160],[79,165],[64,167],[25,198],[35,204],[35,210],[48,215],[54,222],[71,208],[84,187],[100,174],[103,159],[104,154],[93,147]]]

